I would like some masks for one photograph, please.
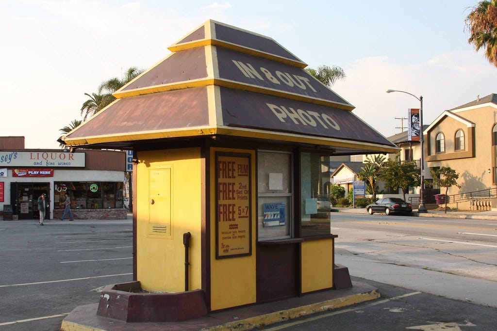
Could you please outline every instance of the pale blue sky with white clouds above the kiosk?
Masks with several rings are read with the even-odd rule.
[[[148,68],[211,18],[269,36],[309,66],[341,66],[332,89],[389,136],[423,96],[424,124],[497,93],[497,68],[466,40],[477,0],[0,0],[2,129],[58,148],[59,129],[103,80]],[[5,121],[6,120],[6,121]]]

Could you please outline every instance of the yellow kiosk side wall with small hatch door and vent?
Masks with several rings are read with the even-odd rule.
[[[184,291],[183,233],[191,233],[189,289],[202,287],[200,148],[138,152],[137,280],[149,291]]]

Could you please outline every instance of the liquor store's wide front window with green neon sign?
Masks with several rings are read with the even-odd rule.
[[[101,209],[123,207],[121,182],[59,182],[54,183],[54,207],[64,209],[66,193],[71,208]]]

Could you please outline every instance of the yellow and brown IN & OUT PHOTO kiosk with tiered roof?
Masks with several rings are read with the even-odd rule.
[[[62,137],[134,151],[138,286],[200,291],[206,311],[336,287],[324,165],[397,146],[271,38],[209,20],[169,50]]]

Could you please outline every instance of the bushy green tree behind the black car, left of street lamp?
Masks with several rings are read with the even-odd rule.
[[[394,190],[402,189],[402,195],[406,200],[406,192],[409,188],[420,185],[420,176],[416,171],[416,163],[400,162],[400,157],[397,155],[395,160],[387,160],[383,163],[379,178],[385,186]]]

